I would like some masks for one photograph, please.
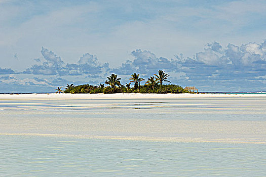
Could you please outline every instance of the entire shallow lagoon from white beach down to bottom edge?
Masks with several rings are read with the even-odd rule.
[[[0,176],[264,176],[265,107],[265,97],[0,100]]]

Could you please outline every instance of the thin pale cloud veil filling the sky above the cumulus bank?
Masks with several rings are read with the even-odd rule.
[[[232,41],[239,45],[266,35],[261,25],[252,28],[248,35],[241,32],[250,21],[260,23],[264,19],[263,1],[203,3],[200,7],[189,2],[168,2],[166,7],[158,6],[160,3],[117,1],[70,4],[11,3],[0,10],[3,13],[0,17],[5,17],[0,22],[3,31],[0,56],[7,59],[4,66],[11,67],[8,61],[17,53],[20,60],[12,68],[26,68],[41,46],[62,54],[67,63],[90,52],[117,67],[117,63],[129,58],[132,49],[156,51],[166,58],[180,52],[193,57],[209,41]],[[254,20],[249,13],[259,13],[260,19]],[[232,19],[244,24],[233,23]],[[259,36],[257,30],[261,30]]]

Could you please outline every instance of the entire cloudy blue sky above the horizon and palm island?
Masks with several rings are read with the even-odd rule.
[[[265,19],[259,0],[0,0],[0,93],[159,69],[200,92],[266,91]]]

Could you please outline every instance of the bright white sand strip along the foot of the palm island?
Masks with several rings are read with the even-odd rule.
[[[266,94],[0,94],[0,100],[173,99],[266,97]]]

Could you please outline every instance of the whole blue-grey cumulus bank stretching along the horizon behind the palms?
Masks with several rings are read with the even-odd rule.
[[[250,42],[241,46],[229,43],[226,47],[222,47],[219,42],[213,42],[208,43],[202,52],[193,57],[179,54],[172,59],[138,49],[131,53],[133,60],[126,60],[121,66],[112,69],[108,63],[101,64],[95,55],[88,53],[72,64],[65,64],[59,56],[44,48],[41,54],[42,57],[34,59],[36,64],[20,73],[39,75],[38,77],[17,79],[14,76],[5,76],[1,77],[0,84],[46,85],[51,89],[55,85],[70,83],[69,78],[76,80],[71,83],[98,84],[104,82],[106,75],[116,73],[123,78],[122,82],[127,82],[132,73],[140,73],[141,77],[147,78],[163,69],[170,74],[172,83],[195,85],[201,91],[266,89],[266,41]],[[0,74],[19,73],[0,68]]]

